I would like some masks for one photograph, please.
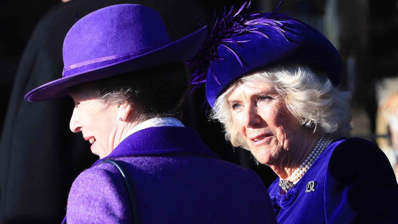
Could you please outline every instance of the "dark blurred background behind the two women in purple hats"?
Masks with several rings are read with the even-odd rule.
[[[70,98],[33,104],[23,96],[61,77],[62,41],[76,16],[122,3],[157,10],[176,40],[199,28],[198,21],[206,24],[214,10],[244,1],[2,1],[0,224],[60,223],[74,178],[98,159],[80,134],[69,131]],[[256,0],[251,8],[271,12],[278,4]],[[341,54],[340,85],[353,94],[350,136],[377,143],[398,171],[398,0],[285,0],[278,12],[288,11],[326,35]],[[191,94],[183,123],[197,129],[222,159],[256,171],[268,187],[275,174],[224,140],[220,125],[207,119],[204,102],[203,89]]]

